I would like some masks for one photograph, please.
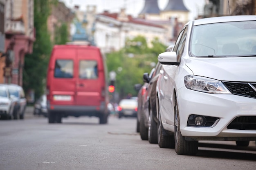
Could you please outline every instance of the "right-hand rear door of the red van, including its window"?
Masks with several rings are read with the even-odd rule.
[[[77,48],[76,105],[99,106],[101,100],[101,54],[97,49]]]

